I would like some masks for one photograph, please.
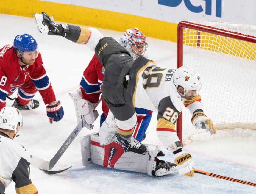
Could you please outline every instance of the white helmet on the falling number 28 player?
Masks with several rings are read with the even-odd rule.
[[[200,76],[192,68],[186,66],[182,66],[175,71],[173,83],[176,88],[178,88],[178,86],[184,88],[184,93],[181,94],[182,96],[186,94],[189,95],[189,91],[193,91],[193,93],[196,92],[197,94],[201,89]]]

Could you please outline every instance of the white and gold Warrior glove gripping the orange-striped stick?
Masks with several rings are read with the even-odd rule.
[[[180,175],[185,175],[189,177],[194,176],[195,164],[189,153],[181,151],[178,152],[177,154],[174,154],[174,162],[178,167],[178,172]]]

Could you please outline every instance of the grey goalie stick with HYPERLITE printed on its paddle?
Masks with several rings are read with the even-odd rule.
[[[98,101],[98,103],[96,104],[95,108],[98,106],[98,104],[100,103],[100,100]],[[94,108],[94,109],[95,109]],[[56,173],[60,173],[63,172],[64,170],[67,170],[68,168],[65,168],[63,170],[58,170],[58,171],[49,171],[50,169],[52,169],[54,167],[54,165],[58,162],[58,160],[60,159],[60,157],[64,154],[64,152],[67,150],[68,146],[72,143],[72,141],[77,137],[77,134],[82,130],[82,128],[85,126],[86,121],[85,118],[83,117],[82,120],[78,123],[78,125],[75,127],[75,129],[71,132],[71,134],[68,136],[68,138],[65,140],[65,142],[62,144],[62,146],[60,147],[60,149],[57,151],[57,153],[54,155],[54,157],[50,160],[50,161],[46,161],[43,159],[40,159],[38,157],[35,157],[33,155],[30,156],[31,158],[31,164],[40,168],[41,170],[45,171],[45,173],[47,174],[56,174]],[[93,126],[92,126],[93,127]],[[91,127],[91,129],[92,129]]]

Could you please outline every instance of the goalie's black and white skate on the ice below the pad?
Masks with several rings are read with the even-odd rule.
[[[174,172],[178,172],[177,165],[171,162],[167,162],[164,160],[157,160],[155,170],[152,171],[153,176],[164,176],[167,174],[171,174]]]

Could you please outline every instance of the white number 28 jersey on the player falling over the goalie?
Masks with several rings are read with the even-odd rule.
[[[182,111],[183,104],[193,114],[194,111],[203,109],[201,96],[198,94],[191,100],[183,99],[172,79],[176,69],[157,67],[151,60],[142,66],[143,59],[138,60],[140,60],[139,68],[137,71],[132,71],[136,74],[136,78],[132,76],[131,80],[135,84],[133,106],[158,113],[157,135],[168,147],[171,143],[179,141],[174,124]],[[136,68],[132,68],[134,69]]]

